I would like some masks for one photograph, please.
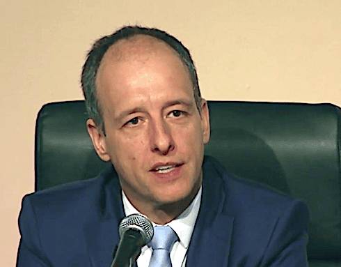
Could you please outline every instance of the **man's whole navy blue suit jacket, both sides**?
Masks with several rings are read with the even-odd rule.
[[[203,195],[187,267],[308,266],[301,201],[232,178],[205,157]],[[18,267],[109,267],[124,217],[113,169],[24,197]],[[160,266],[161,267],[161,266]]]

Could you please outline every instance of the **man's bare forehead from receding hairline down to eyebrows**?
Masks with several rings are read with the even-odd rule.
[[[118,106],[127,105],[127,100],[132,103],[148,96],[193,95],[189,71],[178,54],[164,41],[150,36],[134,36],[110,47],[96,83],[104,109],[119,109]]]

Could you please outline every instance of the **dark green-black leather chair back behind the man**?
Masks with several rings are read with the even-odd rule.
[[[209,102],[205,153],[237,176],[306,201],[310,266],[341,266],[341,110],[331,104]],[[83,101],[54,102],[38,114],[35,190],[95,176]],[[290,266],[288,266],[290,267]]]

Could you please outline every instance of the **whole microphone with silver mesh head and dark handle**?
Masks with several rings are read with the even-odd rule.
[[[141,252],[141,247],[152,240],[152,222],[141,214],[131,214],[123,218],[118,227],[120,243],[111,267],[130,267],[132,260]]]

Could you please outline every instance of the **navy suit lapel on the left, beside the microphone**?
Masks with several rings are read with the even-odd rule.
[[[124,217],[120,184],[114,171],[105,174],[106,181],[100,192],[100,212],[84,227],[90,266],[111,266],[113,253],[116,250],[120,236],[118,224]],[[104,193],[103,193],[104,192]]]

